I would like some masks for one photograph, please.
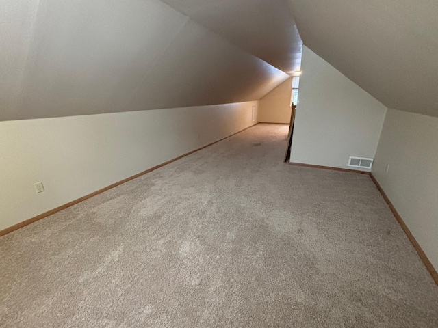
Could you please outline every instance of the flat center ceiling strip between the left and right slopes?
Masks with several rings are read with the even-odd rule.
[[[287,0],[163,0],[272,66],[300,70],[302,41]]]

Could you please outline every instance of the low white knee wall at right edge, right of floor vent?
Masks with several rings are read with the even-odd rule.
[[[436,269],[437,141],[438,118],[388,109],[372,169],[372,174]]]

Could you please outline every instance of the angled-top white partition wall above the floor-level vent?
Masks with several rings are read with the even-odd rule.
[[[348,168],[349,156],[374,158],[386,107],[307,47],[291,162]]]

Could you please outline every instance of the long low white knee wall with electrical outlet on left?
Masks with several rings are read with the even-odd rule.
[[[0,122],[0,230],[241,131],[254,105]]]

